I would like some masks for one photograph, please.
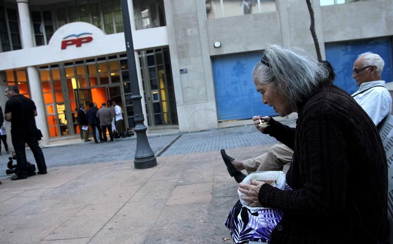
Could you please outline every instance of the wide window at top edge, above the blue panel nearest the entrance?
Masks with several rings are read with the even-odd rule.
[[[276,11],[275,0],[205,0],[208,19]]]

